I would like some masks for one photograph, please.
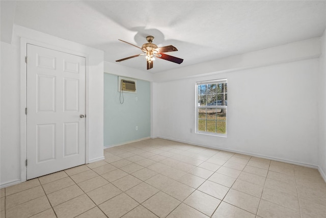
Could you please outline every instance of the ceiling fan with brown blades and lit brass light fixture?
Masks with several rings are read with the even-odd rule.
[[[121,39],[119,39],[119,40],[123,41]],[[182,63],[183,59],[173,57],[171,55],[164,54],[166,52],[178,51],[175,46],[168,45],[168,46],[163,46],[163,47],[157,47],[156,44],[152,43],[154,41],[154,36],[147,36],[146,40],[148,41],[148,43],[143,44],[142,47],[139,47],[137,45],[131,44],[131,43],[126,42],[126,41],[123,41],[125,43],[130,44],[130,45],[138,47],[139,49],[141,49],[143,51],[144,54],[133,55],[133,56],[130,56],[130,57],[127,57],[127,58],[122,58],[120,60],[116,60],[116,62],[120,62],[120,61],[124,61],[124,60],[130,59],[130,58],[135,58],[135,57],[138,57],[138,56],[146,55],[147,69],[153,68],[154,57],[164,59],[164,60],[167,60],[167,61],[171,61],[171,62],[174,62],[174,63],[177,63],[177,64]]]

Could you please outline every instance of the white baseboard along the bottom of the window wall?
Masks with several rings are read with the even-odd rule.
[[[192,144],[194,146],[200,146],[200,147],[205,147],[205,148],[210,148],[210,149],[217,149],[217,150],[227,151],[227,152],[234,152],[234,153],[238,153],[238,154],[244,154],[244,155],[249,155],[249,156],[254,156],[254,157],[269,159],[269,160],[275,160],[275,161],[280,161],[280,162],[285,162],[285,163],[290,163],[290,164],[295,164],[295,165],[300,165],[300,166],[306,166],[306,167],[318,169],[319,172],[320,172],[320,168],[317,165],[313,165],[313,164],[301,163],[301,162],[296,162],[296,161],[291,161],[291,160],[285,160],[285,159],[279,159],[279,158],[275,158],[275,157],[264,156],[264,155],[259,155],[259,154],[254,154],[254,153],[248,153],[248,152],[242,152],[242,151],[237,151],[237,150],[230,150],[230,149],[225,149],[225,148],[220,148],[220,147],[212,147],[212,146],[208,146],[208,145],[205,145],[205,144],[198,144],[198,143],[193,143],[193,142],[190,142],[190,141],[183,141],[183,140],[178,140],[178,139],[168,138],[168,137],[160,137],[160,136],[158,136],[156,138],[163,138],[163,139],[168,139],[168,140],[172,140],[172,141],[178,141],[178,142],[182,142],[182,143]],[[325,180],[325,177],[324,176],[323,176],[323,179]]]

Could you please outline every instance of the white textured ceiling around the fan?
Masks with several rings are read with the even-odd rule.
[[[157,59],[148,72],[192,65],[321,36],[325,1],[17,1],[17,25],[104,51],[104,60],[142,52],[147,35],[175,64]],[[146,70],[144,56],[117,63]]]

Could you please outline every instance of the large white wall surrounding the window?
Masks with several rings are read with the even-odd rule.
[[[313,45],[316,45],[313,39]],[[292,44],[293,55],[302,44]],[[313,46],[306,56],[275,60],[275,52],[264,55],[263,67],[242,64],[239,70],[211,72],[209,76],[194,76],[182,80],[153,83],[152,137],[169,138],[202,146],[248,153],[283,161],[318,165],[318,71],[319,46]],[[280,46],[279,51],[289,45]],[[308,46],[309,47],[309,46]],[[312,51],[312,52],[311,52]],[[313,54],[313,55],[311,55]],[[251,54],[253,55],[253,54]],[[283,54],[279,54],[283,56]],[[239,56],[241,57],[241,56]],[[243,55],[242,57],[248,57]],[[237,57],[238,58],[238,57]],[[265,60],[266,59],[266,60]],[[307,60],[304,60],[307,59]],[[232,60],[228,59],[228,63]],[[226,66],[223,62],[215,65]],[[240,64],[241,65],[241,64]],[[253,63],[254,65],[254,63]],[[202,69],[209,72],[211,65]],[[250,68],[250,69],[248,69]],[[223,71],[222,70],[222,71]],[[184,69],[179,75],[187,75]],[[200,74],[200,73],[199,73]],[[185,76],[186,77],[186,76]],[[218,137],[194,133],[195,83],[211,79],[228,79],[228,136]],[[180,78],[181,79],[181,78]],[[154,79],[155,80],[155,79]],[[158,79],[159,80],[159,79]],[[155,80],[156,81],[156,80]]]

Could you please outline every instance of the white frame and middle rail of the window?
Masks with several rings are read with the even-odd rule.
[[[198,133],[198,134],[205,134],[205,135],[213,135],[213,136],[221,136],[221,137],[227,137],[227,133],[228,133],[228,125],[227,125],[227,122],[228,122],[228,106],[221,106],[221,105],[216,105],[216,106],[200,106],[199,105],[199,101],[198,101],[198,96],[199,96],[199,93],[198,93],[198,85],[207,85],[207,84],[217,84],[217,83],[227,83],[227,79],[217,79],[217,80],[209,80],[209,81],[201,81],[201,82],[196,82],[196,113],[195,113],[195,133]],[[226,92],[227,93],[227,92]],[[226,109],[226,120],[225,120],[225,125],[226,125],[226,131],[225,131],[225,134],[223,133],[213,133],[213,132],[207,132],[207,131],[199,131],[198,130],[198,120],[199,120],[199,113],[198,113],[198,110],[199,109],[204,109],[204,108],[218,108],[218,109],[222,109],[222,108],[225,108]],[[207,120],[207,119],[206,119]]]

